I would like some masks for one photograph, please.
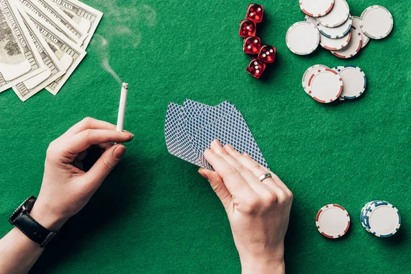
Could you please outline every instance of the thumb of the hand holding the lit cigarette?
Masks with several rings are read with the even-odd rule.
[[[90,190],[95,191],[101,182],[107,177],[125,154],[125,146],[118,144],[110,147],[95,162],[91,169],[84,175],[85,181],[89,182]]]

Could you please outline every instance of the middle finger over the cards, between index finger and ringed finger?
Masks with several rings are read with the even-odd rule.
[[[266,194],[266,191],[268,190],[264,184],[261,184],[260,180],[256,175],[251,173],[245,166],[240,164],[236,159],[234,159],[227,150],[223,148],[219,140],[214,140],[211,143],[212,149],[214,149],[214,152],[218,155],[221,156],[225,161],[227,161],[229,164],[234,166],[234,168],[240,173],[242,177],[244,177],[245,181],[249,186],[257,193],[260,193],[260,195]]]

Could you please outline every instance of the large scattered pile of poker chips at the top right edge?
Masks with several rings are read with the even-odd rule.
[[[358,17],[351,16],[345,0],[299,3],[306,17],[292,25],[286,34],[287,47],[295,54],[310,54],[321,45],[338,58],[351,58],[370,38],[385,38],[393,29],[393,16],[380,5],[366,8]]]

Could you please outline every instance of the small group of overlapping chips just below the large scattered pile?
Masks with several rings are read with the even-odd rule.
[[[323,64],[316,64],[303,74],[302,84],[304,91],[315,101],[331,103],[360,97],[366,88],[366,77],[358,66],[329,69]]]

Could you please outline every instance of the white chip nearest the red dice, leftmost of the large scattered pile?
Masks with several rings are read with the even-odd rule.
[[[305,21],[292,25],[286,34],[288,49],[298,55],[307,55],[319,47],[320,33],[316,25]]]

